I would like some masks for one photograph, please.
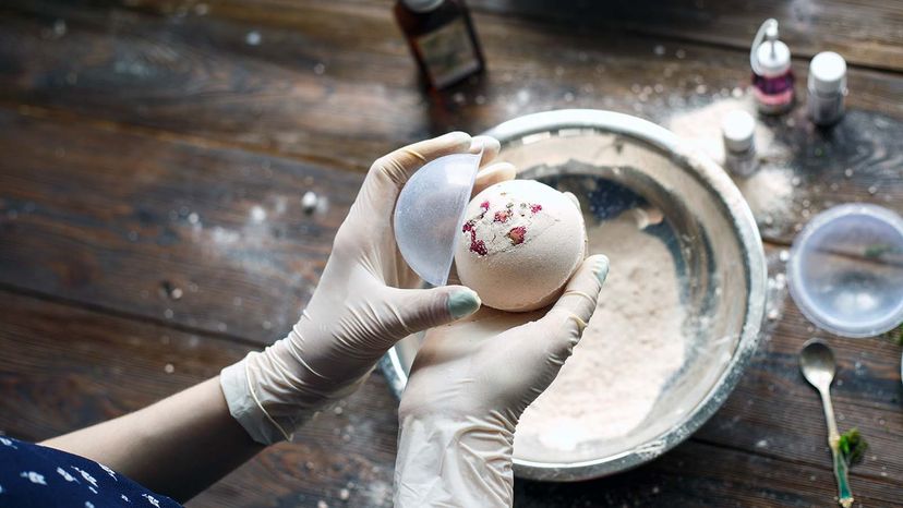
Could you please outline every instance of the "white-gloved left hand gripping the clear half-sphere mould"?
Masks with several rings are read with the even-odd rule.
[[[254,440],[290,439],[316,411],[354,391],[395,342],[479,309],[477,293],[462,286],[410,289],[419,279],[398,252],[392,218],[398,193],[421,166],[481,149],[485,165],[499,144],[454,132],[373,164],[298,324],[285,339],[220,374],[230,413]],[[508,164],[484,167],[474,192],[514,174]]]

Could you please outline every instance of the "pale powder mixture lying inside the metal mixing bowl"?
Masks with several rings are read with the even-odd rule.
[[[521,442],[567,451],[625,436],[683,365],[677,273],[665,244],[638,229],[639,217],[626,213],[589,231],[589,252],[611,261],[609,278],[574,355],[523,413]]]

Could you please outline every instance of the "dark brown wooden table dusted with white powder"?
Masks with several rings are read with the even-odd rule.
[[[840,426],[871,444],[857,500],[903,506],[900,346],[815,329],[780,277],[810,215],[903,210],[903,4],[470,3],[489,72],[428,96],[384,0],[4,2],[0,430],[37,440],[109,419],[282,337],[362,174],[394,147],[570,107],[711,129],[707,108],[744,96],[748,44],[774,16],[799,93],[815,52],[847,58],[851,112],[829,132],[799,108],[764,122],[784,147],[764,174],[792,192],[757,210],[773,287],[752,364],[673,451],[599,481],[518,481],[516,505],[832,506],[819,401],[797,370],[817,336],[840,363]],[[768,180],[739,183],[761,195]],[[305,216],[306,191],[328,209]],[[388,506],[395,411],[373,375],[189,506]]]

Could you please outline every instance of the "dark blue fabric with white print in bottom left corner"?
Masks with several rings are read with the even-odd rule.
[[[0,508],[172,508],[104,464],[0,436]]]

